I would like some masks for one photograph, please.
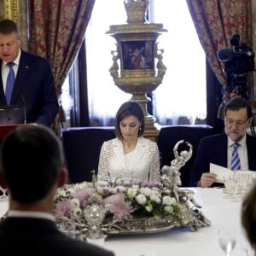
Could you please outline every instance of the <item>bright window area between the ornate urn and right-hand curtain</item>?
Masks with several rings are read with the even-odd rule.
[[[163,83],[154,90],[154,116],[160,124],[177,124],[180,116],[205,119],[207,113],[206,55],[195,32],[185,0],[151,0],[152,22],[168,30],[159,38],[167,67]],[[186,120],[185,120],[186,121]]]

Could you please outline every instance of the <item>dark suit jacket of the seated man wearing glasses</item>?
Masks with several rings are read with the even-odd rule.
[[[197,156],[191,170],[190,186],[196,187],[203,172],[210,172],[210,163],[227,167],[228,137],[225,133],[204,137],[199,143]],[[256,171],[256,137],[247,135],[249,170]]]

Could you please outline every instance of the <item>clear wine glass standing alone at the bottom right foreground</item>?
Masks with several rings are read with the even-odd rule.
[[[218,230],[218,243],[224,253],[226,253],[226,256],[230,256],[236,245],[236,230],[231,228]]]

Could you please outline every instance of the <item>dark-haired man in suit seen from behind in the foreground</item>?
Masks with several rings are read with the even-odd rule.
[[[54,217],[56,189],[66,183],[61,143],[44,125],[22,125],[4,138],[0,185],[9,191],[9,212],[0,222],[2,255],[90,255],[113,253],[65,235]]]

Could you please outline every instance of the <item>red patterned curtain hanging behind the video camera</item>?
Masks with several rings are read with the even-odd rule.
[[[230,47],[230,38],[239,34],[241,42],[252,44],[250,0],[187,0],[207,60],[219,82],[226,84],[224,63],[218,61],[217,51]]]

